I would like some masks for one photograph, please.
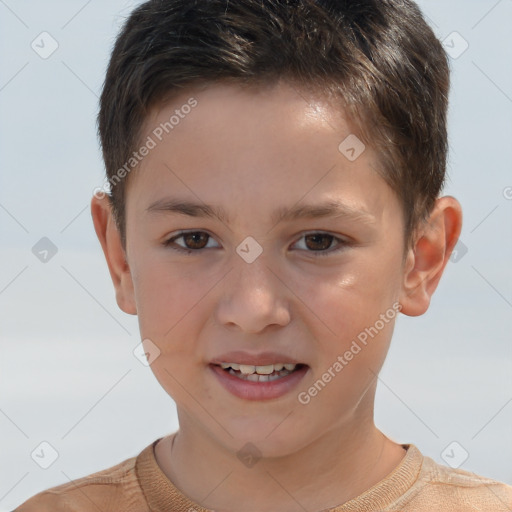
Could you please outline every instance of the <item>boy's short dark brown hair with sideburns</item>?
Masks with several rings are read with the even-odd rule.
[[[123,247],[127,179],[113,180],[149,110],[197,83],[280,80],[340,102],[376,149],[411,243],[444,184],[450,82],[442,44],[413,1],[150,0],[117,37],[98,114]]]

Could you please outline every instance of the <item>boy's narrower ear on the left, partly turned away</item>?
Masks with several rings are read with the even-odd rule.
[[[101,198],[93,196],[91,215],[96,235],[107,260],[110,277],[114,283],[117,305],[125,313],[136,315],[137,308],[130,267],[107,195],[103,194]]]

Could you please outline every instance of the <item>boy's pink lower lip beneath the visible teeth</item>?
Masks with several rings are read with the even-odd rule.
[[[231,394],[244,400],[270,400],[286,395],[286,393],[292,391],[299,384],[309,369],[308,366],[303,366],[280,379],[267,382],[252,382],[239,379],[217,365],[211,364],[209,368]]]

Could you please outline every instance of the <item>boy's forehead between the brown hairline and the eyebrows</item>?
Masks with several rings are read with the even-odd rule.
[[[387,185],[375,154],[352,133],[342,108],[285,83],[187,90],[150,112],[141,141],[150,139],[154,147],[127,193],[139,211],[172,191],[196,203],[227,204],[226,215],[237,205],[255,210],[258,202],[272,204],[274,214],[320,196],[379,215],[389,192],[380,190]]]

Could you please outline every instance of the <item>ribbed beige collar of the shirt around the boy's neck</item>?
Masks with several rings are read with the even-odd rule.
[[[155,445],[160,439],[144,448],[137,456],[135,465],[137,477],[150,511],[211,512],[185,496],[162,472],[154,451]],[[415,445],[402,444],[401,446],[405,448],[406,454],[387,477],[359,496],[325,512],[370,512],[385,509],[400,498],[417,480],[423,463],[423,455]]]

